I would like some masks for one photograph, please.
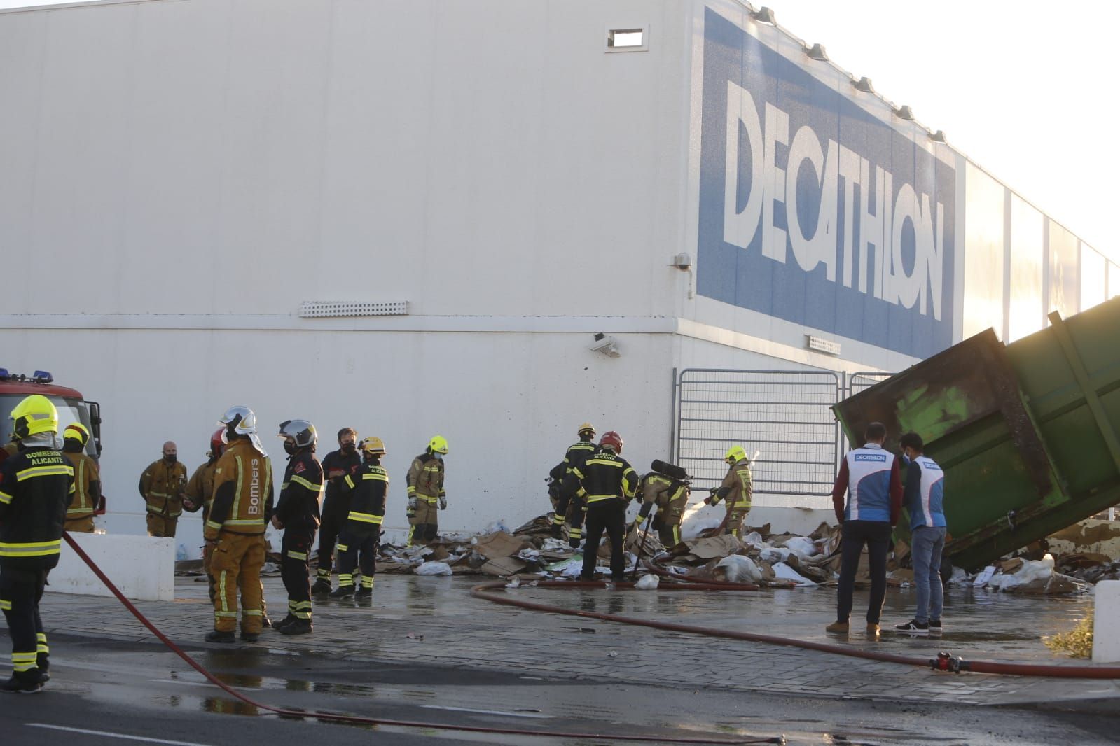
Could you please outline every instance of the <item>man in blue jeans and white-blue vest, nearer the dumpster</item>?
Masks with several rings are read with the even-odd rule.
[[[895,629],[906,634],[941,634],[941,551],[945,548],[945,474],[941,466],[922,455],[925,444],[917,433],[906,433],[899,441],[906,465],[903,500],[911,516],[911,561],[917,608],[914,618]]]

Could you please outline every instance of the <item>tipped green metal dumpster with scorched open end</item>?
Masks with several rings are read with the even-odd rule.
[[[945,472],[954,565],[1120,503],[1120,298],[1049,322],[1010,344],[989,329],[833,407],[851,443],[870,422],[895,452],[903,433],[922,436]]]

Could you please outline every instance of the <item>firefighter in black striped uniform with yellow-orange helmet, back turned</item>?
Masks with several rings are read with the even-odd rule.
[[[381,522],[385,518],[385,495],[389,493],[389,472],[381,465],[385,444],[380,437],[362,441],[362,468],[343,478],[351,490],[351,511],[338,535],[338,589],[333,598],[354,595],[368,598],[373,595],[373,575],[376,572],[377,540]],[[361,563],[362,587],[354,589],[354,566]]]

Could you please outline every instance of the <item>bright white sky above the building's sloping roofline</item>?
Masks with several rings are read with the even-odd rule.
[[[655,2],[656,0],[648,0]],[[1101,0],[755,0],[1120,262],[1113,36]],[[0,8],[50,4],[0,0]]]

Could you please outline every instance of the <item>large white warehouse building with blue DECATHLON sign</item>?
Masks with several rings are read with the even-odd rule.
[[[842,444],[810,431],[836,433],[821,404],[852,374],[1017,339],[1120,271],[769,21],[735,0],[0,11],[0,366],[100,402],[110,531],[143,531],[164,441],[193,470],[235,404],[278,478],[281,421],[311,419],[320,456],[343,426],[383,437],[391,531],[433,434],[441,528],[477,530],[548,510],[584,421],[702,485],[744,442],[750,522],[815,526]],[[808,429],[766,398],[797,376],[824,397],[800,399]],[[758,416],[734,415],[748,389]],[[197,518],[179,537],[197,551]]]

